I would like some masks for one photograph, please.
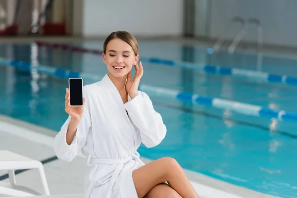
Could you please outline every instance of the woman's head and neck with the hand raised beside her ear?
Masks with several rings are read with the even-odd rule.
[[[128,95],[131,99],[134,99],[138,95],[138,85],[143,76],[142,63],[137,64],[139,54],[135,37],[131,33],[124,31],[111,33],[103,44],[102,58],[107,66],[108,77],[113,82],[118,82],[114,84],[123,102],[128,101]],[[133,65],[136,74],[133,81],[131,81]]]

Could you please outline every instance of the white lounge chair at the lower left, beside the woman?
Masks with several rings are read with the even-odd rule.
[[[16,185],[14,170],[35,168],[39,171],[44,188],[44,194],[25,186]],[[43,164],[40,161],[24,157],[8,150],[0,150],[0,170],[7,170],[9,175],[9,183],[0,181],[0,194],[12,197],[49,195],[46,175]]]

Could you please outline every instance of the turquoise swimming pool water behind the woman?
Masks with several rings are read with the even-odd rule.
[[[72,43],[101,49],[103,42]],[[255,69],[256,56],[225,52],[213,56],[205,48],[169,42],[140,42],[146,57]],[[95,54],[2,45],[0,56],[77,72],[106,73]],[[242,57],[246,57],[243,61]],[[296,60],[264,57],[262,71],[297,76]],[[297,86],[258,82],[201,73],[195,69],[144,63],[142,83],[207,97],[229,99],[297,112]],[[153,78],[153,79],[152,79]],[[91,83],[85,81],[85,83]],[[67,114],[64,95],[68,82],[36,71],[0,67],[0,113],[59,131]],[[284,198],[297,197],[296,123],[240,114],[211,106],[193,105],[148,92],[167,126],[167,136],[155,148],[139,148],[142,156],[171,156],[186,169],[236,185]]]

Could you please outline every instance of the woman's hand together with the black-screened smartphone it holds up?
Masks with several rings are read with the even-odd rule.
[[[66,89],[65,111],[75,119],[80,121],[84,112],[85,98],[83,98],[83,79],[69,78],[69,88]]]

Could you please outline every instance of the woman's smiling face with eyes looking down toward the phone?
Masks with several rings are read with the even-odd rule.
[[[103,62],[114,77],[126,76],[137,64],[139,55],[135,55],[132,47],[121,39],[113,39],[106,46],[106,54],[102,54]]]

